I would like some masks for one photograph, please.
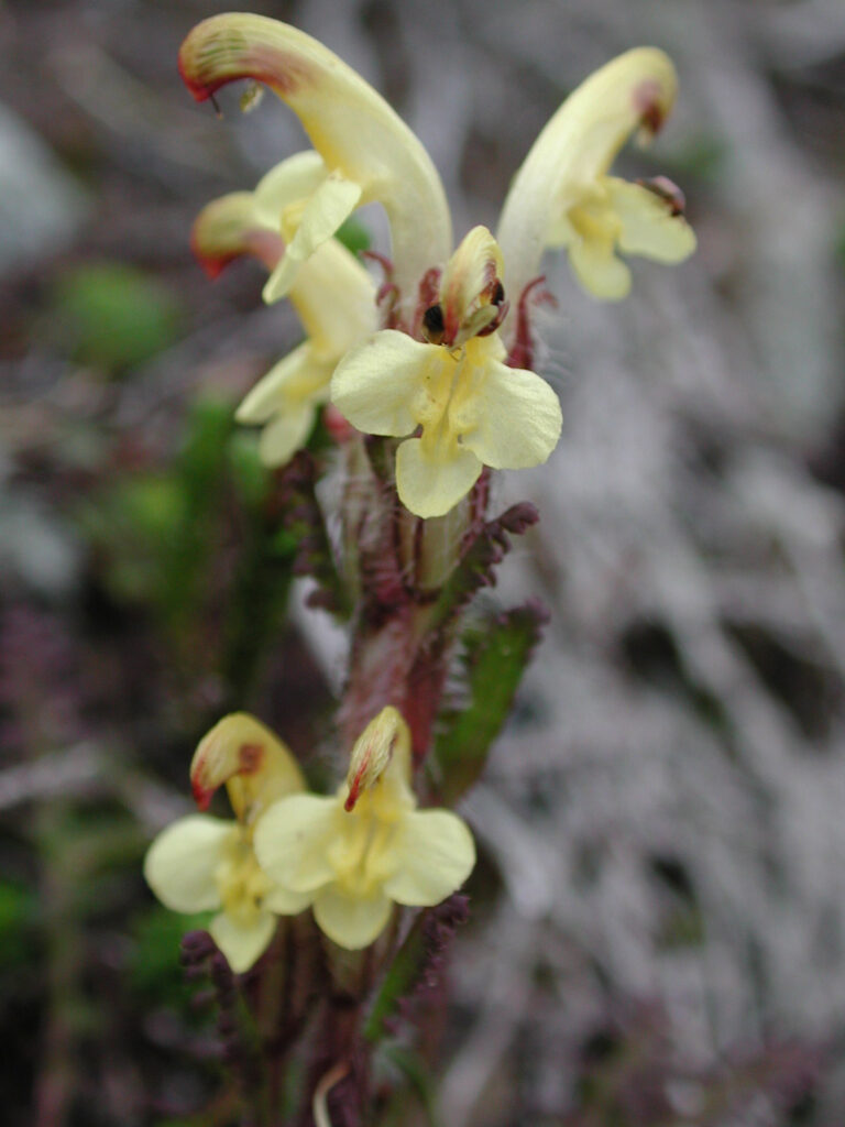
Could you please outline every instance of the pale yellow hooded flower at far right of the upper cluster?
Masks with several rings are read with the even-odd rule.
[[[566,247],[579,283],[616,301],[631,273],[616,251],[679,263],[695,250],[683,196],[667,180],[629,184],[607,171],[629,135],[656,133],[671,109],[677,78],[655,47],[602,66],[543,128],[514,178],[497,237],[506,284],[522,293],[546,247]]]

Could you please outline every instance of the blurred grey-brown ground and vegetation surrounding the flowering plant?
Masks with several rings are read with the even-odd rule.
[[[0,5],[0,1074],[9,1125],[228,1124],[141,877],[197,737],[247,708],[330,758],[343,639],[232,409],[297,340],[193,216],[304,147],[176,72],[240,5]],[[845,6],[301,0],[430,151],[456,234],[637,44],[682,92],[624,174],[685,189],[678,268],[620,305],[550,260],[550,463],[502,569],[542,649],[482,783],[439,1124],[845,1122]],[[376,246],[380,218],[364,215]],[[492,597],[492,596],[490,596]],[[318,763],[319,766],[319,763]],[[213,1106],[212,1106],[213,1107]],[[216,1117],[215,1117],[216,1116]],[[409,1119],[410,1121],[410,1119]],[[422,1120],[424,1121],[424,1120]]]

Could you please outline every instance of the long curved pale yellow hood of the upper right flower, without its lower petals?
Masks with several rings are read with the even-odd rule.
[[[635,47],[590,74],[543,128],[514,178],[497,232],[505,290],[514,302],[509,329],[516,299],[540,273],[559,216],[604,176],[638,126],[659,127],[676,90],[668,56],[656,47]]]

